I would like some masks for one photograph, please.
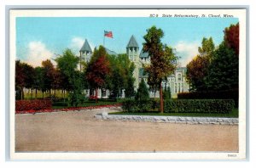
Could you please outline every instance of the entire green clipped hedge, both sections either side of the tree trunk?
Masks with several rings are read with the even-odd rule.
[[[233,99],[169,99],[164,101],[164,113],[231,113]],[[149,112],[158,110],[159,100],[135,101],[122,103],[124,112]]]

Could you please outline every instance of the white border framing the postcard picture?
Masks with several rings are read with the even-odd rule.
[[[108,11],[108,12],[107,12]],[[15,18],[16,17],[148,17],[149,14],[232,14],[240,23],[239,153],[15,153]],[[246,9],[28,9],[10,10],[10,158],[12,160],[244,160],[246,158]],[[228,154],[236,154],[230,158]]]

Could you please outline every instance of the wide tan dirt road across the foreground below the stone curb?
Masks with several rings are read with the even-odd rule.
[[[15,150],[238,151],[238,126],[96,120],[102,111],[15,115]]]

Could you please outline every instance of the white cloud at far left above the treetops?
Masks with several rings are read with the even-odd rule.
[[[29,42],[28,44],[28,54],[27,54],[26,63],[31,64],[32,66],[41,66],[42,61],[46,59],[52,59],[54,53],[50,52],[49,49],[45,47],[43,42]],[[51,60],[53,64],[54,61]]]

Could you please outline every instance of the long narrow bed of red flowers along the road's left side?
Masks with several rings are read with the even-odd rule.
[[[38,110],[29,109],[29,110],[16,110],[15,114],[50,113],[50,112],[58,112],[58,111],[115,108],[115,107],[120,107],[120,106],[121,106],[121,104],[112,104],[112,105],[96,105],[96,106],[88,106],[88,107],[72,107],[72,108],[66,108],[66,109],[38,109]]]

